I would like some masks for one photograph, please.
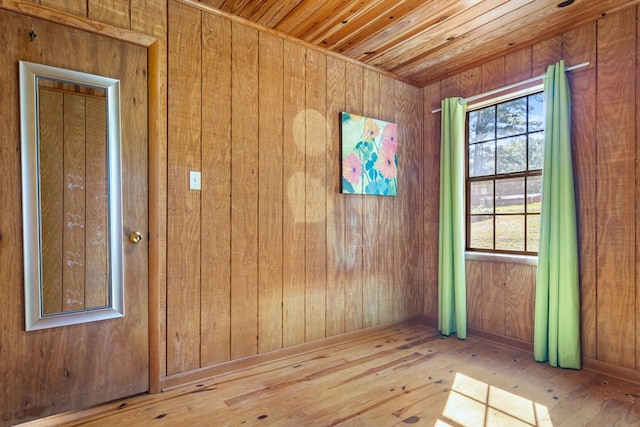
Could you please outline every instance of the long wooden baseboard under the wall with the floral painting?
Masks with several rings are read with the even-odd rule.
[[[395,322],[391,324],[373,326],[366,329],[360,329],[353,332],[347,332],[332,337],[322,338],[316,341],[310,341],[303,344],[294,345],[291,347],[283,348],[280,350],[270,351],[268,353],[256,354],[248,356],[238,360],[232,360],[229,362],[219,363],[200,369],[195,369],[189,372],[179,373],[175,375],[169,375],[161,380],[162,391],[169,391],[178,387],[190,385],[205,379],[209,379],[218,375],[226,374],[229,372],[246,369],[251,366],[259,365],[262,363],[272,362],[278,359],[284,359],[291,356],[297,356],[307,352],[317,350],[318,348],[326,347],[333,344],[339,344],[349,340],[355,340],[358,338],[366,337],[372,333],[382,331],[385,329],[394,329],[399,326],[407,326],[414,323],[424,323],[421,319],[410,319],[402,322]]]

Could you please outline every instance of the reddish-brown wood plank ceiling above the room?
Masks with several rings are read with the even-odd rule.
[[[419,87],[640,3],[640,0],[200,1],[389,71]]]

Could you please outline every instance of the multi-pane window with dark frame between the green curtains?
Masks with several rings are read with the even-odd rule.
[[[544,95],[467,113],[467,250],[535,255]]]

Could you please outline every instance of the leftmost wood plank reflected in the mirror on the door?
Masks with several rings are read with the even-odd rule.
[[[64,159],[64,95],[62,92],[40,90],[40,193],[42,212],[42,307],[45,313],[62,311],[63,289],[63,181]]]

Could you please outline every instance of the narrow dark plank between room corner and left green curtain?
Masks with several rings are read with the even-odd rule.
[[[424,298],[422,315],[431,325],[438,323],[438,217],[440,206],[440,114],[432,113],[440,108],[440,85],[424,87],[424,125],[422,168],[422,212],[424,224]]]

